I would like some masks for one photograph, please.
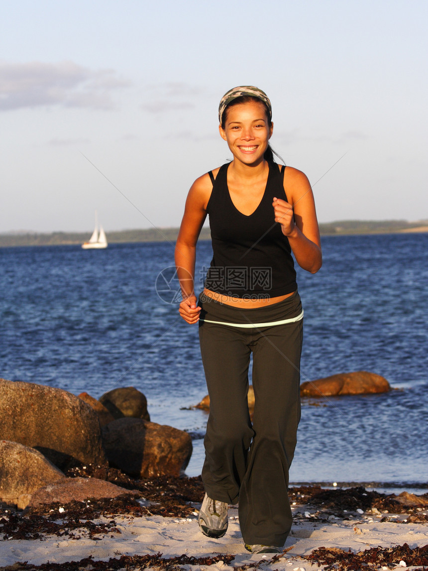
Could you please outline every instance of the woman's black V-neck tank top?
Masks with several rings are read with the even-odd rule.
[[[284,171],[269,162],[269,174],[263,198],[249,216],[232,202],[223,164],[213,182],[207,205],[213,258],[205,287],[211,291],[244,299],[267,299],[297,289],[296,271],[288,238],[275,222],[274,196],[286,200]]]

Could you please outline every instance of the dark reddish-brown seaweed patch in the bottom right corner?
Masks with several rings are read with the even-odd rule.
[[[426,566],[428,565],[428,545],[411,549],[405,543],[395,547],[374,547],[359,553],[320,547],[302,558],[311,563],[326,565],[325,571],[361,571],[368,565],[372,569],[381,566],[394,568],[399,565],[400,561],[404,561],[406,566]]]

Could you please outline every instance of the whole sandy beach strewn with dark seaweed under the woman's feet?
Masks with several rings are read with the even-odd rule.
[[[284,553],[261,556],[244,549],[237,506],[229,508],[223,538],[203,536],[200,503],[186,500],[187,487],[188,496],[200,492],[199,478],[161,483],[146,494],[158,501],[128,496],[28,513],[2,509],[0,569],[346,570],[364,568],[368,554],[372,569],[428,569],[427,494],[291,488],[293,528]]]

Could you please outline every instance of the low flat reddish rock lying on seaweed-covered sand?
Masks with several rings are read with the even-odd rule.
[[[68,504],[75,501],[99,500],[100,498],[115,498],[123,494],[138,496],[138,490],[127,490],[98,478],[64,478],[56,484],[40,488],[33,494],[29,508],[53,502]]]

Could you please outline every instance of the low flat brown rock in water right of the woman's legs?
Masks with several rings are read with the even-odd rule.
[[[306,381],[300,385],[300,396],[369,395],[390,390],[390,384],[384,377],[367,371],[356,371]]]

